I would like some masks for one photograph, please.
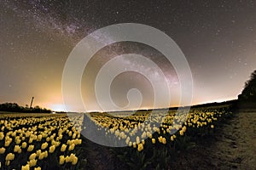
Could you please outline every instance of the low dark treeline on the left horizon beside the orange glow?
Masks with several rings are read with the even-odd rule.
[[[41,108],[38,105],[35,107],[25,107],[18,105],[16,103],[4,103],[0,104],[0,111],[10,111],[10,112],[24,112],[24,113],[50,113],[51,111],[45,108]]]

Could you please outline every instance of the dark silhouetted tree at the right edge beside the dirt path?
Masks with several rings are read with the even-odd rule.
[[[245,83],[245,87],[238,96],[241,101],[256,102],[256,70],[253,71],[250,79]]]

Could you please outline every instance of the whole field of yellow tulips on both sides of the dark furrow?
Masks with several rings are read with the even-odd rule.
[[[116,145],[108,150],[129,169],[165,169],[172,156],[189,150],[198,139],[214,135],[214,129],[232,115],[230,105],[182,113],[137,111],[124,117],[111,113],[0,113],[0,169],[84,169],[90,164],[84,161],[90,150],[85,132],[101,137],[104,144]]]

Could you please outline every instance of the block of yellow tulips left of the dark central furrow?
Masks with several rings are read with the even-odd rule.
[[[1,114],[0,124],[0,169],[76,168],[82,140],[66,115]]]

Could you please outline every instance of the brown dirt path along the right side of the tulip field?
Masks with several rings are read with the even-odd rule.
[[[185,154],[178,169],[256,170],[256,111],[239,111],[214,137]]]

